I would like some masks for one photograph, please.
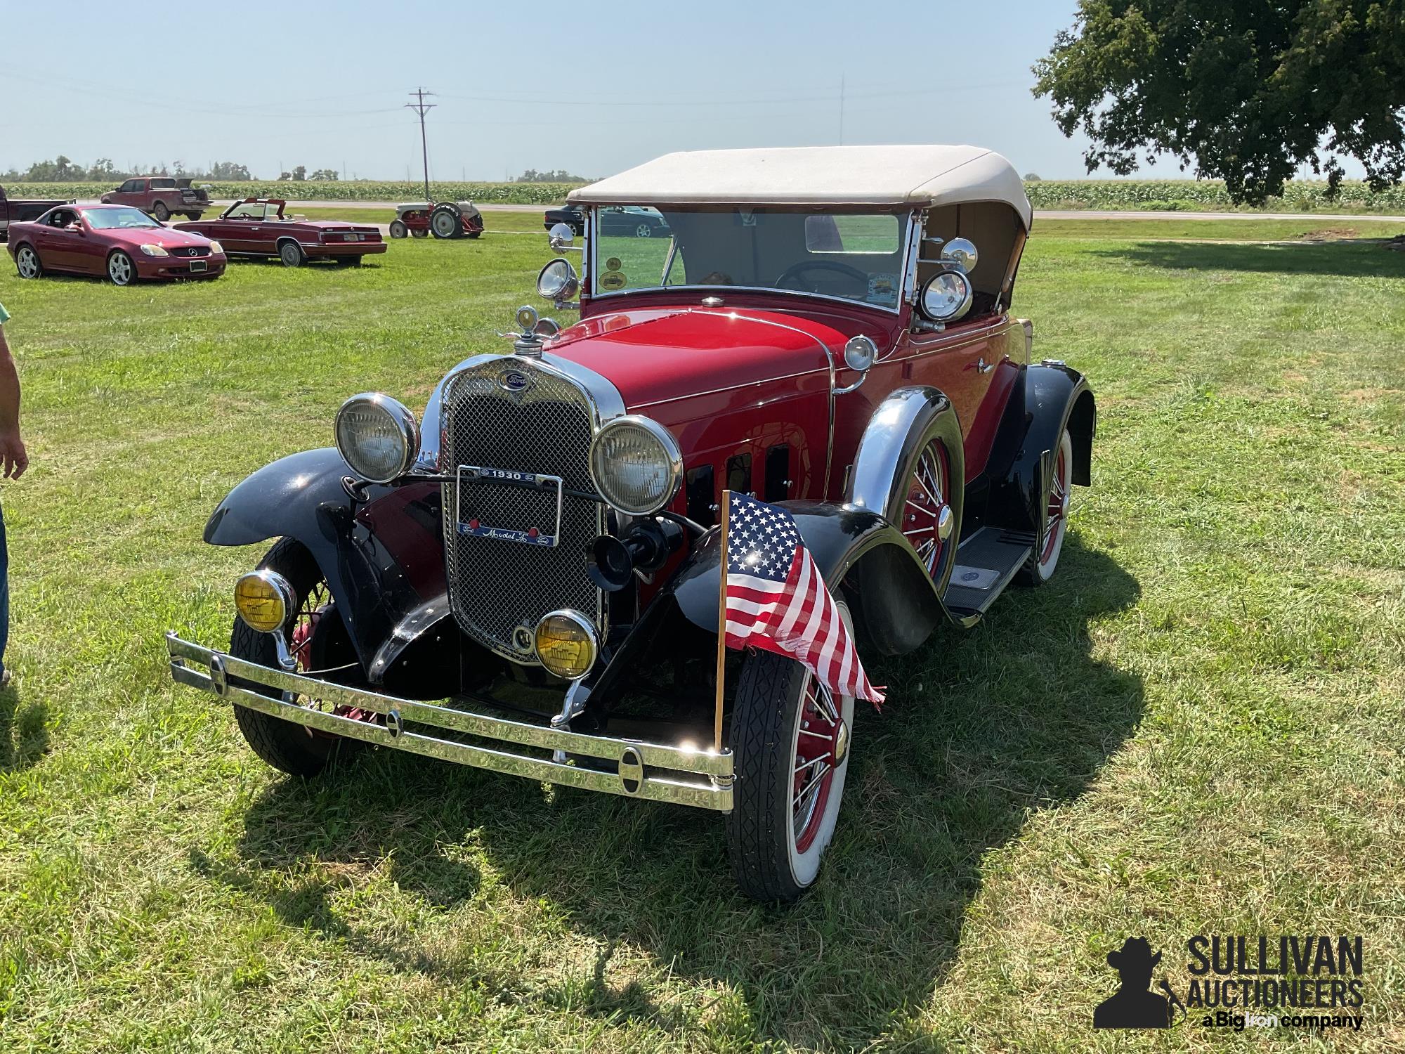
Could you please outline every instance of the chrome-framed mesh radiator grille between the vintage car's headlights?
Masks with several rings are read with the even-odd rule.
[[[566,378],[523,360],[495,360],[451,378],[443,408],[445,475],[457,476],[459,465],[503,468],[561,476],[568,490],[594,492],[587,468],[593,406]],[[603,505],[563,497],[555,547],[461,534],[458,523],[471,517],[548,533],[556,493],[444,483],[450,603],[465,634],[499,655],[535,663],[531,631],[548,611],[575,609],[603,630],[603,594],[586,576],[586,551],[604,530]]]

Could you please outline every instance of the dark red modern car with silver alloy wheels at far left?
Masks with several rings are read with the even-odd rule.
[[[21,278],[45,271],[138,278],[218,278],[225,250],[201,235],[164,228],[131,205],[59,205],[10,225],[10,256]]]

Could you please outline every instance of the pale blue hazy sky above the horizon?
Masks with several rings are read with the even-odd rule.
[[[6,7],[0,170],[65,153],[419,178],[403,104],[424,86],[433,178],[597,177],[669,150],[839,142],[843,82],[844,142],[965,142],[1083,174],[1082,142],[1030,94],[1073,0]]]

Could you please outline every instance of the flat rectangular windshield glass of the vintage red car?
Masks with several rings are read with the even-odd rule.
[[[596,294],[683,285],[784,289],[896,309],[906,214],[778,208],[596,209]]]

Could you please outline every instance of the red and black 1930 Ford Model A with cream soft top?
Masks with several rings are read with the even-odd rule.
[[[721,811],[742,888],[794,898],[854,700],[729,652],[714,741],[722,492],[784,506],[860,649],[899,655],[1054,572],[1093,395],[1010,316],[1031,214],[999,155],[680,153],[570,198],[582,273],[554,260],[538,292],[579,289],[582,320],[523,309],[423,430],[354,396],[336,448],[236,486],[205,540],[280,541],[236,583],[229,651],[171,634],[171,672],[285,772],[370,742]],[[604,235],[607,207],[672,238]]]

